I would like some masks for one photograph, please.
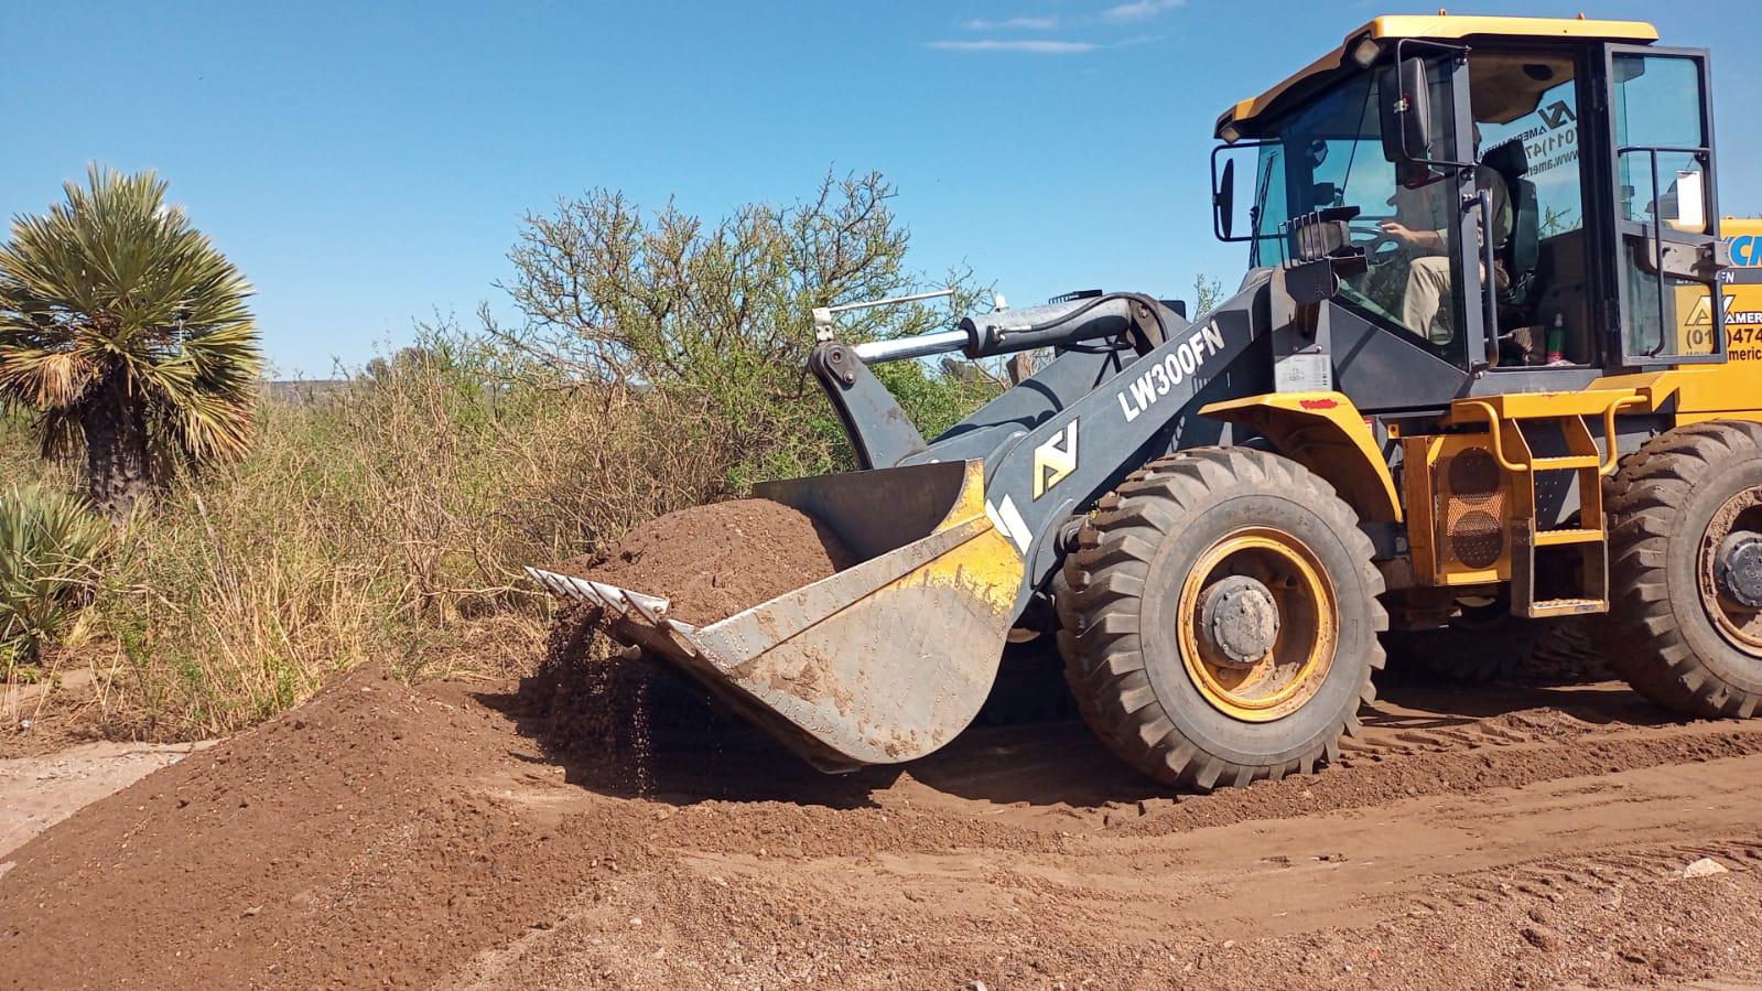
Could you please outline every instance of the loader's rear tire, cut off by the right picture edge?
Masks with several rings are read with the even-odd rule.
[[[1750,541],[1753,591],[1762,423],[1721,420],[1653,437],[1610,480],[1607,511],[1602,640],[1610,667],[1677,712],[1753,716],[1762,705],[1762,610],[1723,591],[1718,564],[1727,541]]]

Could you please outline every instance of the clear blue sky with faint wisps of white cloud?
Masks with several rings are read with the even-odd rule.
[[[1581,9],[1714,49],[1723,206],[1762,213],[1755,0],[1450,4]],[[590,187],[721,215],[879,169],[925,272],[971,265],[1017,303],[1189,296],[1196,272],[1242,268],[1210,236],[1216,115],[1404,11],[11,0],[0,213],[44,210],[88,160],[159,169],[257,284],[282,376],[358,365],[437,310],[500,309],[520,215]]]

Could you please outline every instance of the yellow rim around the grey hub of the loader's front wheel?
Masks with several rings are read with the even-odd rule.
[[[1219,601],[1235,589],[1251,589],[1256,610],[1274,610],[1276,630],[1263,656],[1251,656],[1253,649],[1244,654],[1240,642],[1216,635]],[[1219,712],[1249,723],[1281,719],[1314,698],[1339,642],[1327,570],[1304,541],[1269,527],[1235,531],[1200,555],[1182,582],[1175,622],[1193,686]]]

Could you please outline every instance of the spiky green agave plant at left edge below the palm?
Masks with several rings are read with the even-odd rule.
[[[109,536],[74,496],[37,485],[0,490],[0,672],[35,661],[67,631]]]

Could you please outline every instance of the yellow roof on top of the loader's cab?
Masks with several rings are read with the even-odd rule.
[[[1575,41],[1619,41],[1649,44],[1658,41],[1658,28],[1646,21],[1591,21],[1579,18],[1452,18],[1445,12],[1424,16],[1385,16],[1346,34],[1346,41],[1334,51],[1316,58],[1299,69],[1293,76],[1272,86],[1255,99],[1240,101],[1218,116],[1218,136],[1223,138],[1225,125],[1233,123],[1240,134],[1251,132],[1255,118],[1281,104],[1283,97],[1309,92],[1341,69],[1351,65],[1346,55],[1360,39],[1429,39],[1462,41],[1477,37],[1501,39],[1575,39]]]

